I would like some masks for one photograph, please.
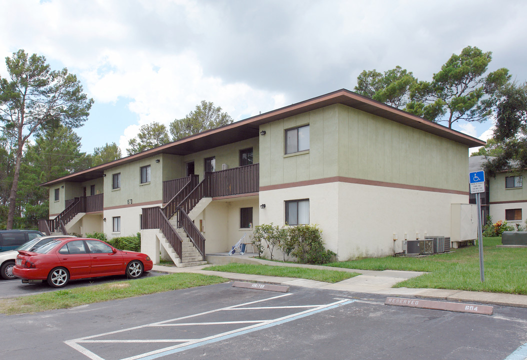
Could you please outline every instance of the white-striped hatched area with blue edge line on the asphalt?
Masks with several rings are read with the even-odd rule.
[[[294,305],[289,298],[286,299],[291,295],[270,296],[199,314],[67,340],[65,343],[93,360],[112,358],[115,351],[129,355],[125,357],[128,360],[154,359],[222,342],[354,301],[337,299],[326,304]]]

